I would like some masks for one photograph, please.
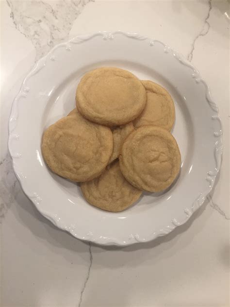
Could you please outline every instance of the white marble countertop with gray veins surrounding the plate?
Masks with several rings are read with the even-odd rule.
[[[228,307],[229,1],[2,0],[1,306]],[[200,71],[224,126],[214,193],[185,225],[147,244],[103,248],[55,228],[26,198],[7,152],[11,103],[34,61],[69,36],[140,32]]]

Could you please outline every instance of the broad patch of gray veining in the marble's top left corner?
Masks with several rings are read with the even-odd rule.
[[[74,20],[93,0],[7,0],[16,29],[33,44],[37,61],[68,37]]]

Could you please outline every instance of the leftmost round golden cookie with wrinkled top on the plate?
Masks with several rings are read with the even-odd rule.
[[[111,130],[84,119],[77,111],[49,126],[42,139],[42,154],[49,168],[77,182],[99,176],[112,152]]]

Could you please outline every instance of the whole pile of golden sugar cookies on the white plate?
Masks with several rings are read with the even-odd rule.
[[[81,182],[91,205],[122,211],[143,190],[162,191],[177,177],[174,121],[174,102],[162,86],[98,68],[78,85],[76,108],[44,132],[43,157],[56,174]]]

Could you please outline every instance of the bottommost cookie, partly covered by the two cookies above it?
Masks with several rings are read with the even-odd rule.
[[[118,212],[136,202],[142,191],[125,180],[116,161],[98,177],[81,183],[85,199],[100,209]]]

